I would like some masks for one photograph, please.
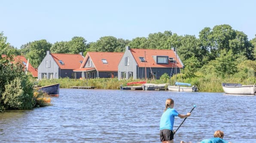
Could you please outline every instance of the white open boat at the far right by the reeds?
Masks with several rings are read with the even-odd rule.
[[[238,83],[222,83],[222,88],[227,94],[247,94],[254,95],[256,93],[255,85],[241,85]]]

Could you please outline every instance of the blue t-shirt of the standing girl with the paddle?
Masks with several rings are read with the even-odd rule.
[[[160,120],[160,130],[169,129],[173,130],[174,127],[174,117],[178,116],[178,112],[174,108],[168,108],[161,117]]]

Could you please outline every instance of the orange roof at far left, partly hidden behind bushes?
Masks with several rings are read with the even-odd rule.
[[[2,55],[3,57],[6,57],[7,55]],[[27,59],[24,57],[24,55],[14,55],[13,60],[15,62],[22,63],[24,65],[24,70],[27,68],[27,72],[31,73],[33,77],[37,77],[37,69],[32,67],[32,65],[27,61]]]

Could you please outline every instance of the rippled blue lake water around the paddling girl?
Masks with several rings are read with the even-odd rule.
[[[256,96],[171,91],[60,89],[53,106],[0,113],[0,143],[160,143],[167,98],[180,114],[197,107],[174,135],[198,143],[224,131],[232,143],[256,143]],[[184,119],[175,118],[174,129]]]

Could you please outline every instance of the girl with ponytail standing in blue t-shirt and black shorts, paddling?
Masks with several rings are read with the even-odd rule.
[[[189,117],[190,113],[186,115],[179,114],[174,109],[174,100],[166,99],[165,101],[165,111],[162,114],[160,120],[160,140],[162,143],[173,143],[174,142],[174,117],[178,116],[180,118]]]

